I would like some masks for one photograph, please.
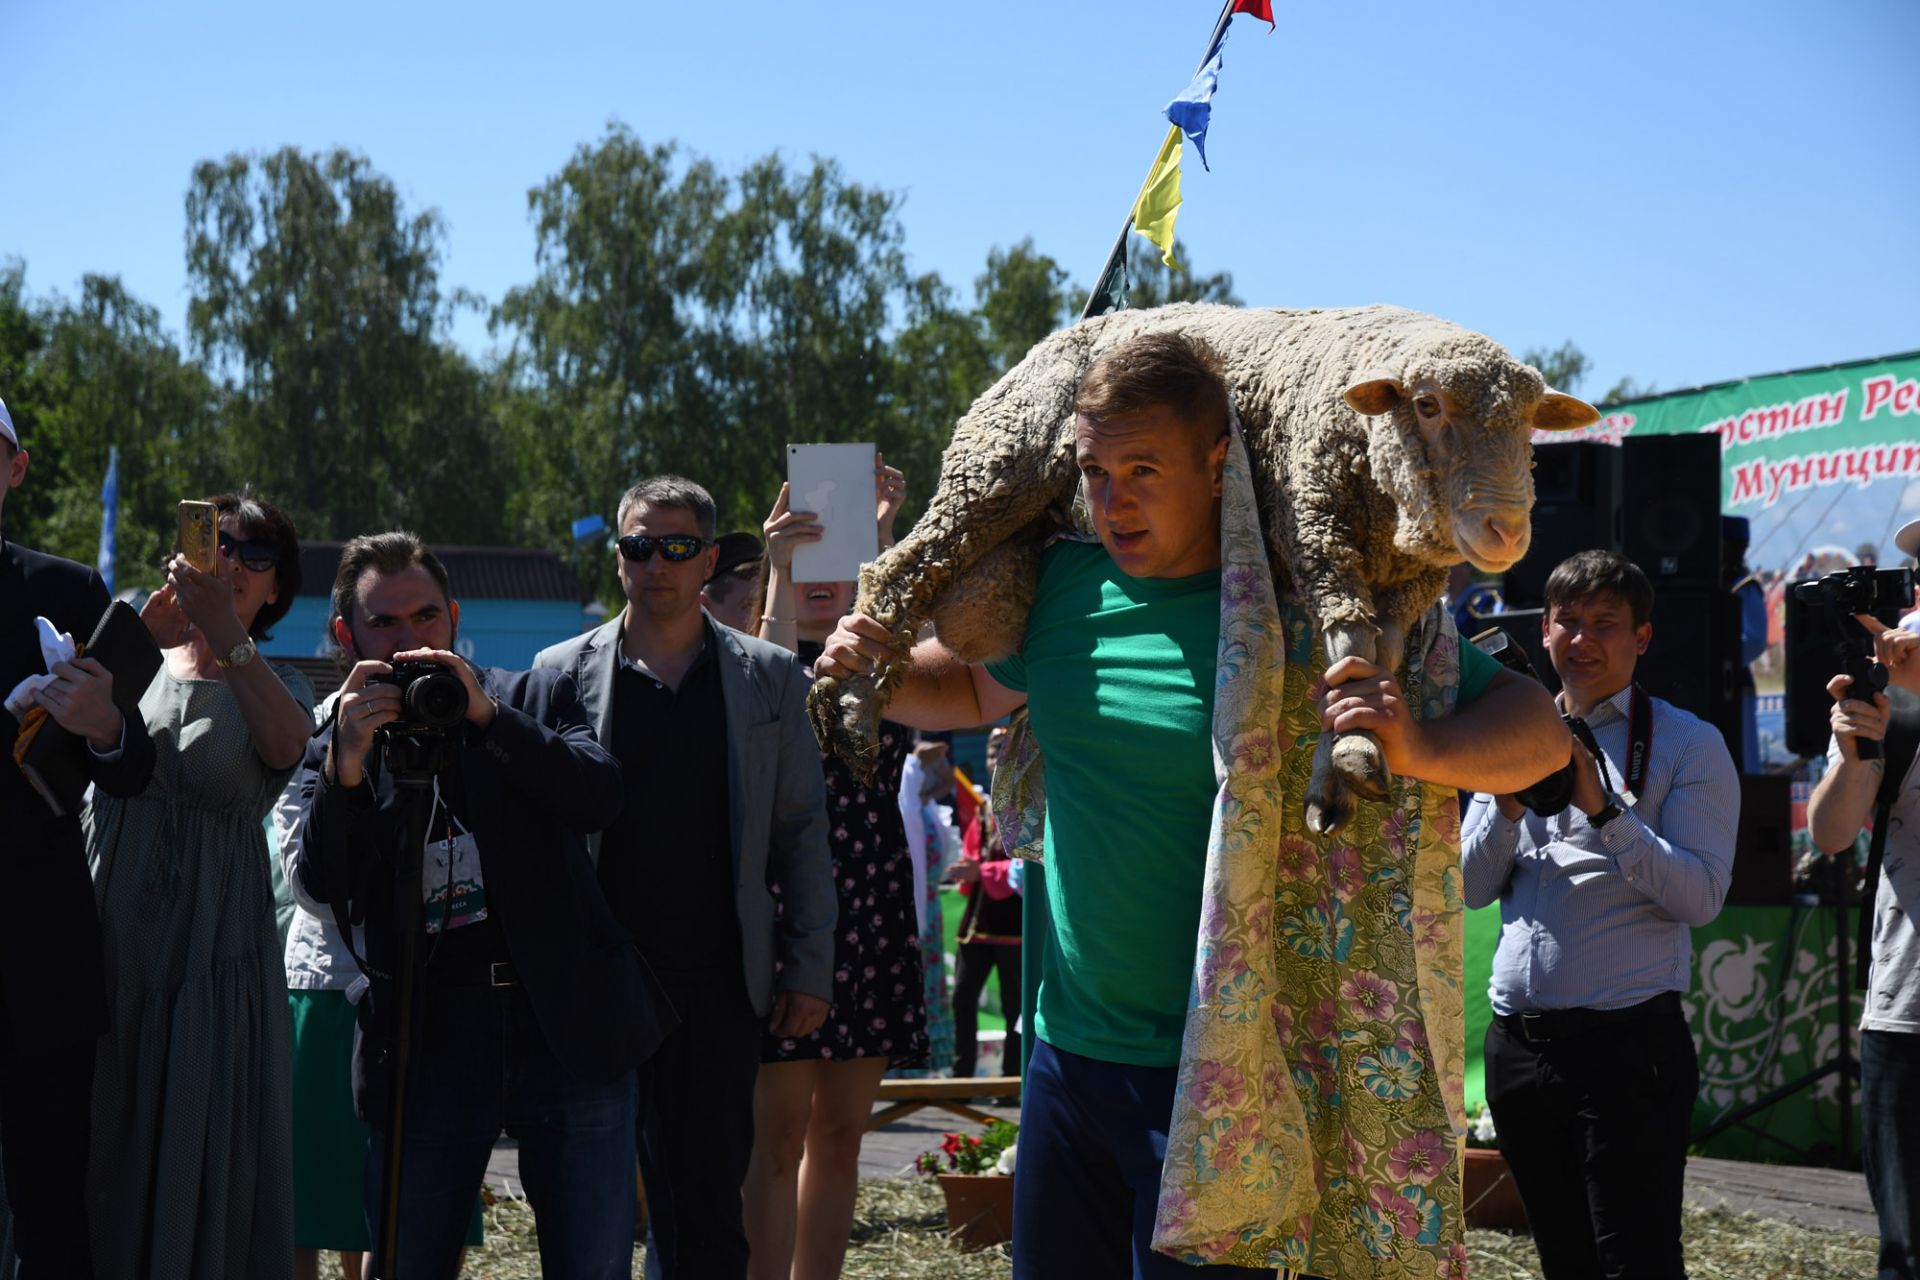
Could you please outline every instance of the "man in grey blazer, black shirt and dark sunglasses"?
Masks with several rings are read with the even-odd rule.
[[[680,1013],[639,1071],[662,1274],[743,1278],[760,1036],[812,1032],[833,994],[826,781],[806,668],[701,608],[718,555],[707,489],[643,480],[618,530],[626,608],[536,666],[574,677],[620,760],[626,806],[589,852]]]

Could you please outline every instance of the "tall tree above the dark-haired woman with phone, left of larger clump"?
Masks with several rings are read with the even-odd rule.
[[[232,472],[307,537],[499,533],[505,451],[480,370],[444,338],[444,236],[363,155],[194,169],[188,334],[228,391]]]

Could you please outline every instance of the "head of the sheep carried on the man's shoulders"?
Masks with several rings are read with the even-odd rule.
[[[1457,332],[1409,351],[1398,372],[1363,374],[1344,399],[1375,418],[1369,459],[1400,507],[1396,543],[1488,574],[1511,568],[1532,539],[1532,432],[1599,418],[1494,342]]]

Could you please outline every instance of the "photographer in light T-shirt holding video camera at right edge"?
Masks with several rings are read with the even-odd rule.
[[[1895,545],[1920,555],[1920,520],[1907,524]],[[1910,601],[1910,583],[1907,587]],[[1889,614],[1897,616],[1897,614]],[[1889,628],[1872,614],[1859,624],[1874,639],[1874,658],[1889,689],[1920,695],[1920,635]],[[1864,683],[1864,681],[1860,681]],[[1860,1163],[1880,1217],[1880,1276],[1920,1276],[1920,766],[1914,764],[1914,725],[1905,725],[1905,748],[1889,739],[1893,700],[1860,687],[1851,674],[1834,676],[1834,739],[1826,775],[1807,802],[1807,831],[1824,854],[1853,854],[1855,839],[1874,816],[1884,842],[1880,889],[1872,908],[1872,963],[1860,1013]],[[1864,743],[1874,747],[1862,750]],[[1887,762],[1905,756],[1897,775]],[[1876,806],[1885,806],[1878,814]]]

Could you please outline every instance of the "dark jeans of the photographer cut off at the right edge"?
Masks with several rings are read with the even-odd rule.
[[[1880,1280],[1920,1276],[1920,1036],[1860,1032],[1860,1165],[1880,1217]]]

